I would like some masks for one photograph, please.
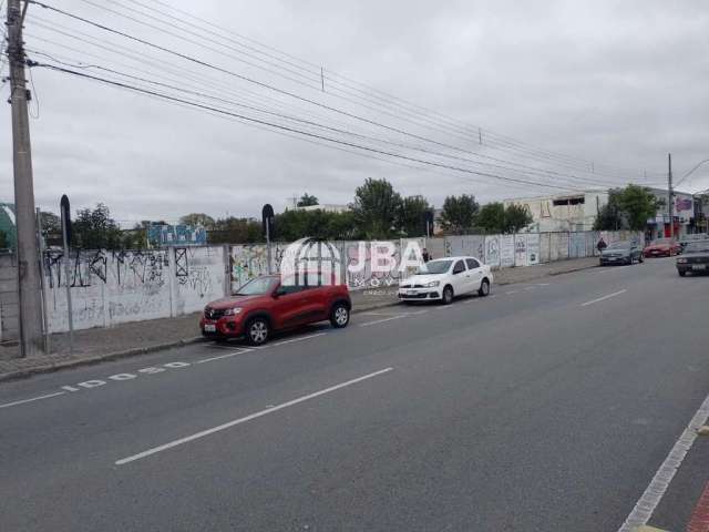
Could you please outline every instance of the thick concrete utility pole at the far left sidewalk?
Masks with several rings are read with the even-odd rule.
[[[27,4],[25,4],[27,9]],[[20,356],[37,355],[42,341],[40,257],[38,253],[32,184],[32,152],[27,111],[20,0],[8,0],[8,58],[12,104],[12,151],[14,167],[14,216],[18,229],[18,277],[20,299]]]

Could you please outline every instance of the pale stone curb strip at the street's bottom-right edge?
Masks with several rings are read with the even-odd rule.
[[[653,481],[647,487],[635,508],[623,523],[623,526],[618,529],[618,532],[630,532],[640,528],[650,520],[655,509],[662,500],[665,492],[669,488],[669,483],[672,481],[675,473],[679,469],[685,460],[685,457],[691,449],[691,446],[697,439],[697,429],[705,424],[709,419],[709,396],[697,410],[697,413],[691,418],[689,424],[681,433],[672,450],[660,466],[660,468],[653,477]]]

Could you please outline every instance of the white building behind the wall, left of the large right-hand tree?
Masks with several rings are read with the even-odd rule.
[[[533,222],[530,232],[592,231],[600,208],[608,203],[608,191],[582,191],[554,196],[505,200],[505,207],[524,205]]]

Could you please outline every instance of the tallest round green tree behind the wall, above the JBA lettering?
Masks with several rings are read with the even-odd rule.
[[[391,183],[369,177],[354,191],[350,209],[366,238],[388,238],[394,234],[400,206],[401,195]]]

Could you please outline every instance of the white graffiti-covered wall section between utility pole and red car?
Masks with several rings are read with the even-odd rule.
[[[69,330],[66,284],[74,329],[168,318],[199,310],[224,294],[220,247],[61,252],[44,257],[51,332]],[[65,267],[69,266],[69,275]]]

